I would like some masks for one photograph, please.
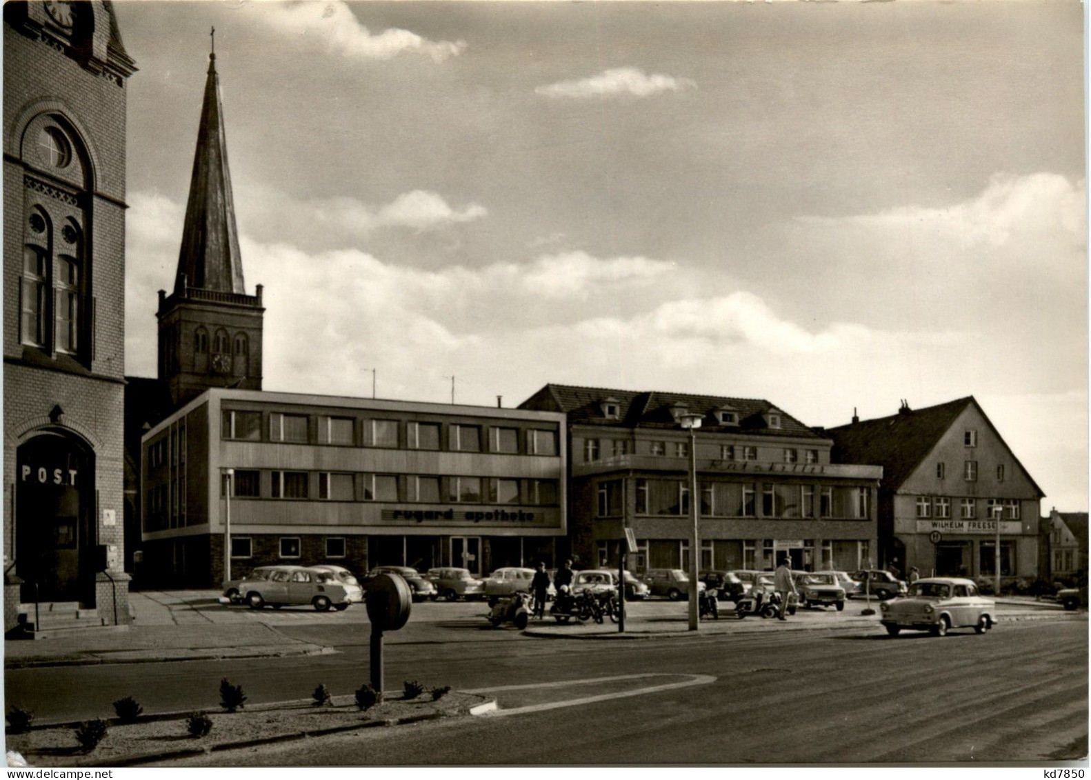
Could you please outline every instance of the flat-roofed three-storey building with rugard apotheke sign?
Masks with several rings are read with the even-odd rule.
[[[551,412],[205,391],[143,437],[142,578],[215,587],[228,538],[232,572],[552,566],[563,428]]]

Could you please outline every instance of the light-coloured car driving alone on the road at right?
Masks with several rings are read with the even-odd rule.
[[[960,626],[984,634],[996,623],[996,602],[979,593],[972,579],[961,577],[919,579],[906,598],[884,601],[879,609],[879,622],[890,636],[898,636],[902,628],[946,636]]]

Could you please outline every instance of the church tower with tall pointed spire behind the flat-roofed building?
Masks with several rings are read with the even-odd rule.
[[[215,32],[215,31],[214,31]],[[215,50],[170,296],[159,290],[159,380],[176,406],[209,387],[262,388],[262,286],[247,295]]]

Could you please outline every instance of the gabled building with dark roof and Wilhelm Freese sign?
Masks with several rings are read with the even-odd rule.
[[[999,523],[1000,576],[1036,576],[1044,493],[973,396],[918,410],[903,401],[897,415],[853,417],[826,434],[835,461],[883,467],[879,564],[993,577]]]

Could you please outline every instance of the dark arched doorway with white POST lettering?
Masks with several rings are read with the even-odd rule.
[[[23,601],[83,601],[95,595],[95,455],[47,430],[15,456],[15,567]]]

